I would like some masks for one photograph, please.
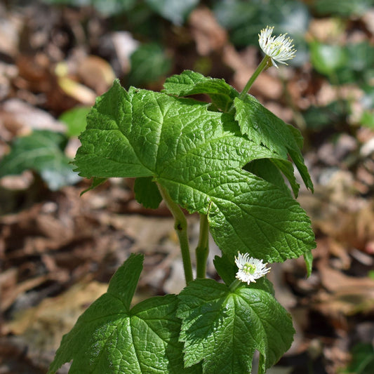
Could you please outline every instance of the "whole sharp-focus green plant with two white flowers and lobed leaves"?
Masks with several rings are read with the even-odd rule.
[[[96,100],[76,171],[93,178],[91,188],[106,178],[136,178],[143,206],[166,203],[186,286],[131,307],[143,255],[130,255],[62,338],[49,374],[69,361],[72,374],[251,373],[255,351],[263,374],[290,348],[293,323],[274,298],[267,264],[303,255],[311,272],[314,234],[293,197],[300,188],[294,166],[313,185],[300,132],[247,93],[263,69],[295,54],[290,39],[271,35],[272,28],[262,30],[266,55],[241,93],[185,71],[166,79],[161,93],[126,91],[114,81]],[[201,93],[211,102],[188,98]],[[200,217],[196,279],[182,208]],[[222,281],[206,278],[209,232],[222,252],[213,261]]]

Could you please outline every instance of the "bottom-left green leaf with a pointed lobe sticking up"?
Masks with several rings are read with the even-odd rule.
[[[71,360],[70,374],[201,372],[199,366],[183,368],[175,295],[149,298],[130,309],[142,260],[142,255],[131,255],[117,270],[107,293],[62,338],[49,374]]]

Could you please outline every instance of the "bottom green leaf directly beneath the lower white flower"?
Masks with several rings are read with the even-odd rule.
[[[290,315],[257,283],[231,292],[224,284],[198,279],[178,298],[185,366],[202,361],[204,374],[251,373],[256,349],[265,358],[265,373],[293,341]]]

